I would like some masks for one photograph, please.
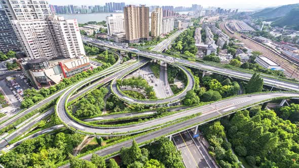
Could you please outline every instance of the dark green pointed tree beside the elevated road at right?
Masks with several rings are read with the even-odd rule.
[[[264,80],[259,76],[259,74],[254,73],[253,76],[248,81],[245,91],[246,93],[261,92],[263,90]]]

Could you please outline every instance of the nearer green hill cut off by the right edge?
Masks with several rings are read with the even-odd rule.
[[[293,8],[289,13],[277,19],[271,25],[279,27],[287,26],[299,30],[299,7]]]

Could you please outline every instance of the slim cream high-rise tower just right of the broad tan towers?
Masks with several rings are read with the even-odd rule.
[[[152,12],[151,19],[151,35],[152,37],[158,37],[161,35],[162,30],[162,8],[156,8],[155,11]]]

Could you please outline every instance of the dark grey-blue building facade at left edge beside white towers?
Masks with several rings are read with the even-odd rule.
[[[0,9],[0,52],[21,52],[22,46],[3,9]]]

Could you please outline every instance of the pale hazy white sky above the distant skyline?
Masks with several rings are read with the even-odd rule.
[[[111,0],[49,0],[50,4],[53,5],[104,5],[106,2],[125,2],[128,4],[145,4],[147,6],[159,5],[159,6],[185,6],[189,7],[192,4],[199,4],[204,7],[221,7],[221,8],[240,8],[240,9],[253,9],[253,8],[266,8],[281,6],[287,4],[299,3],[299,0],[124,0],[124,1],[111,1]]]

